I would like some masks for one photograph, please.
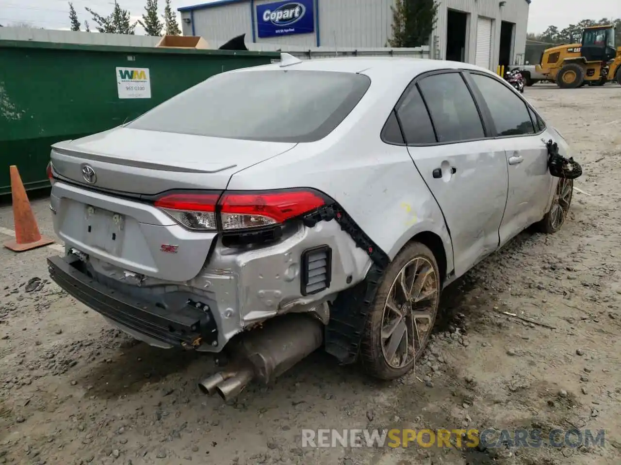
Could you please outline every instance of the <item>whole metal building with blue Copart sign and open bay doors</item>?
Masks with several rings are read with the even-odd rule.
[[[387,47],[395,0],[211,0],[179,8],[184,35],[212,47],[247,43],[296,47]],[[428,44],[432,58],[485,68],[524,62],[530,0],[442,0]],[[420,44],[424,45],[424,44]]]

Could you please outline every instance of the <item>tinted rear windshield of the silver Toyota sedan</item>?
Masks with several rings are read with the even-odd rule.
[[[369,88],[368,77],[332,71],[218,74],[126,127],[273,142],[327,136]]]

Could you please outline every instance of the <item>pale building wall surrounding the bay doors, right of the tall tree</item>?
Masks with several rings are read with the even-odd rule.
[[[476,55],[476,22],[479,16],[494,20],[492,25],[492,59],[490,69],[496,69],[500,55],[501,21],[515,23],[514,50],[512,61],[519,60],[524,56],[526,48],[526,28],[528,24],[529,4],[526,0],[506,0],[505,6],[500,6],[499,0],[443,0],[438,8],[438,21],[433,35],[436,49],[434,58],[444,60],[446,57],[446,20],[448,10],[456,10],[469,13],[466,33],[466,61],[474,63]]]

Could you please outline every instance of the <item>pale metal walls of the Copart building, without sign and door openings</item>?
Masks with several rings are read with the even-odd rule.
[[[395,0],[315,0],[319,24],[315,33],[260,39],[256,37],[256,5],[274,0],[239,1],[193,12],[181,12],[184,35],[201,35],[212,47],[246,33],[246,42],[291,45],[295,47],[386,47],[392,33],[391,6]],[[466,33],[466,61],[476,56],[476,23],[479,16],[493,20],[492,51],[489,68],[495,69],[500,53],[501,21],[515,23],[512,61],[517,63],[525,53],[528,22],[527,0],[442,0],[438,1],[438,19],[433,31],[432,58],[446,56],[446,20],[448,9],[469,13]],[[194,29],[186,23],[192,18]],[[252,18],[252,19],[251,19]],[[253,28],[253,22],[255,27]],[[318,36],[318,37],[317,37]],[[519,57],[519,58],[516,58]]]

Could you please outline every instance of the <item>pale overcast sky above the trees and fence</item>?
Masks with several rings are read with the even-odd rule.
[[[172,0],[171,4],[176,11],[181,6],[207,1],[209,0]],[[129,10],[134,20],[140,19],[145,3],[145,0],[119,0],[120,6]],[[163,9],[164,0],[159,3],[160,9]],[[91,29],[94,29],[91,15],[84,7],[88,6],[101,15],[107,15],[112,11],[114,0],[73,0],[73,6],[78,12],[80,22],[84,23],[86,19]],[[25,22],[45,29],[69,29],[68,11],[66,0],[0,0],[0,24]],[[621,0],[532,0],[528,32],[540,33],[552,24],[563,29],[582,19],[598,20],[603,17],[621,17]],[[140,26],[136,33],[143,33]]]

